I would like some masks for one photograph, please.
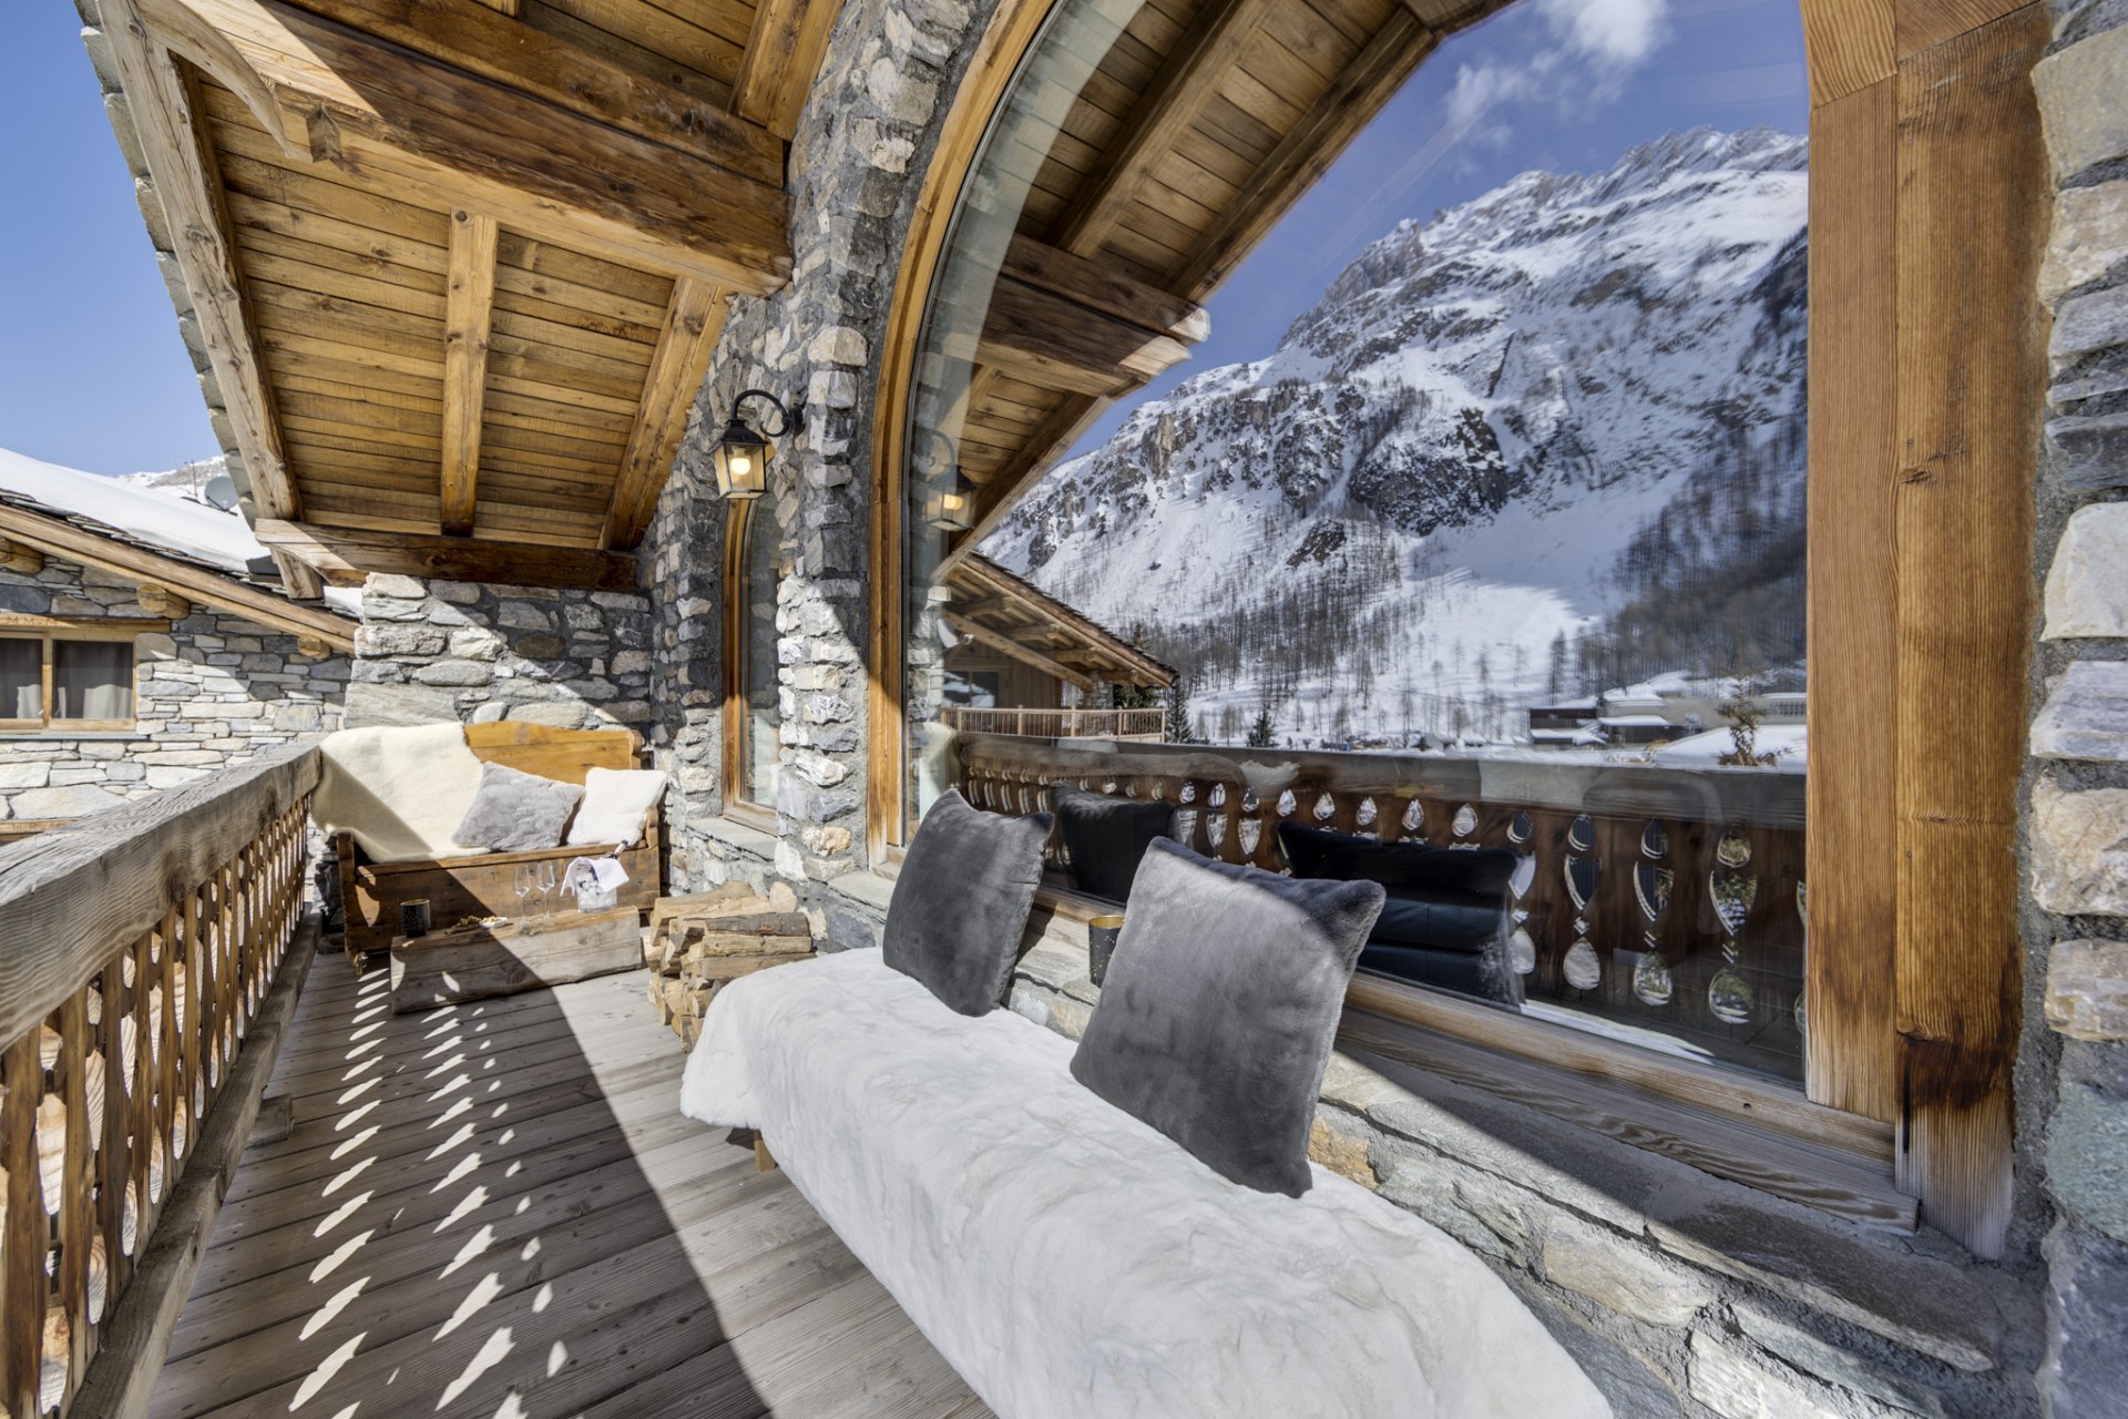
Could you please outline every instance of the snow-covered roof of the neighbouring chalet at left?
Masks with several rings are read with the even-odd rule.
[[[292,600],[243,517],[172,494],[0,449],[0,540],[353,649],[353,615]],[[355,598],[334,600],[351,611]]]

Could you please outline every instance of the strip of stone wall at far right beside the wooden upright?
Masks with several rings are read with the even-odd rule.
[[[2096,1419],[2128,1406],[2128,2],[2056,0],[2032,81],[2056,202],[2019,1151],[2056,1215],[2041,1393]]]

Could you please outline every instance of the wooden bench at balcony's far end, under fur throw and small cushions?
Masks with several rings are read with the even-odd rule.
[[[466,747],[487,764],[583,783],[594,768],[643,768],[643,740],[632,730],[551,730],[538,723],[468,723]],[[428,900],[436,930],[462,917],[521,917],[528,906],[517,898],[519,864],[555,864],[555,879],[570,857],[598,855],[602,849],[553,847],[538,853],[479,853],[475,857],[436,857],[430,862],[370,862],[355,840],[332,834],[340,866],[340,902],[347,908],[347,955],[360,970],[368,959],[383,959],[392,938],[400,936],[400,904]],[[643,823],[643,840],[621,853],[628,883],[615,906],[647,911],[664,885],[664,851],[658,834],[658,813]]]

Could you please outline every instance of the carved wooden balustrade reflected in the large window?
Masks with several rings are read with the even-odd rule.
[[[955,753],[979,808],[1043,811],[1051,783],[1160,798],[1196,851],[1270,870],[1279,821],[1511,849],[1524,1008],[1802,1076],[1802,774],[979,734]]]

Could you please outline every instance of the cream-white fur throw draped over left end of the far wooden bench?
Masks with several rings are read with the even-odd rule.
[[[481,787],[481,762],[455,723],[340,730],[317,745],[323,770],[311,817],[351,832],[370,862],[468,857],[458,832]]]

